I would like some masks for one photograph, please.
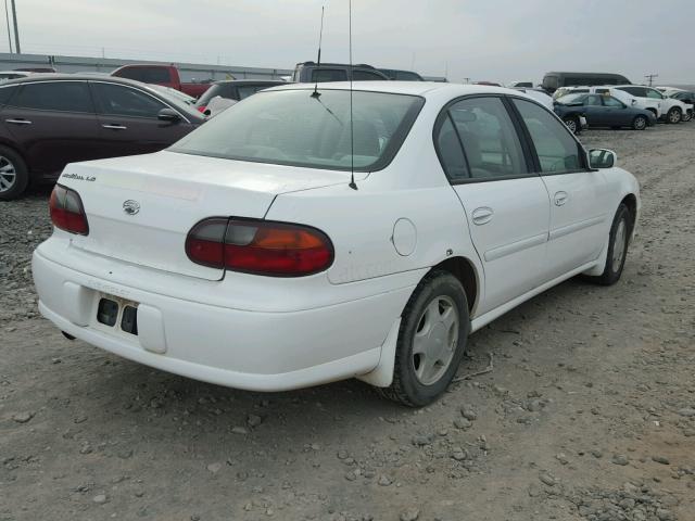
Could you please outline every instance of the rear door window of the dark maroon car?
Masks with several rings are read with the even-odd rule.
[[[12,105],[37,111],[94,112],[86,81],[24,84],[12,98]]]

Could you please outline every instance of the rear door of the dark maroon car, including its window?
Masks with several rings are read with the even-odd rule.
[[[17,89],[2,122],[31,171],[53,175],[67,163],[102,157],[86,81],[37,81]]]

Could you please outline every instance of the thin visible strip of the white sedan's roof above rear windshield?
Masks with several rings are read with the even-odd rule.
[[[318,85],[318,90],[350,90],[350,81],[325,81],[319,84],[287,84],[267,91],[274,90],[308,90]],[[439,81],[353,81],[352,89],[355,91],[384,92],[392,94],[430,96],[451,93],[456,96],[478,94],[478,93],[506,93],[519,94],[518,90],[505,87],[492,87],[488,85],[462,85],[442,84]]]

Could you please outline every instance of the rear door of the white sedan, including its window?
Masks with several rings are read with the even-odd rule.
[[[545,266],[549,202],[501,97],[464,98],[439,116],[435,145],[464,207],[494,309],[539,284]]]

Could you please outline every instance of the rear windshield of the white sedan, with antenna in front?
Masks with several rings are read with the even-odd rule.
[[[415,96],[353,91],[260,92],[205,123],[169,150],[185,154],[281,165],[378,170],[388,165],[425,100]]]

